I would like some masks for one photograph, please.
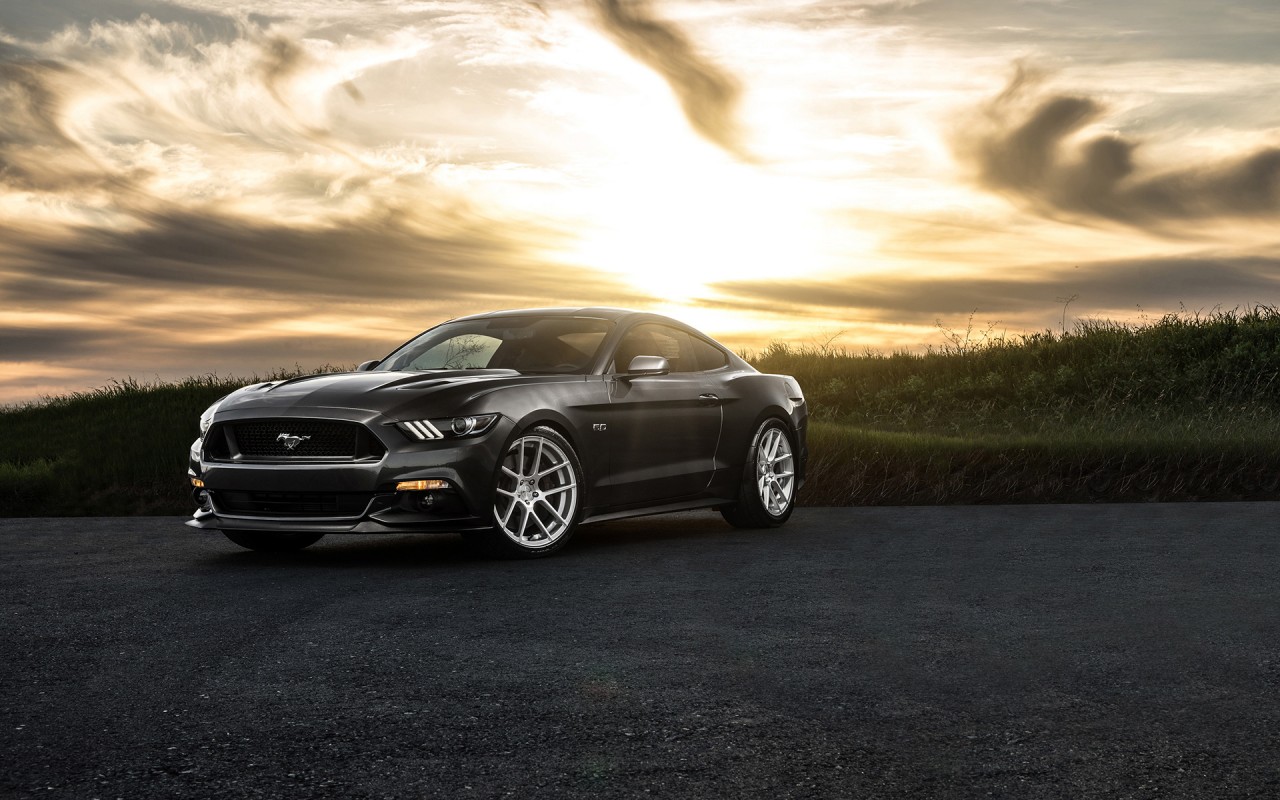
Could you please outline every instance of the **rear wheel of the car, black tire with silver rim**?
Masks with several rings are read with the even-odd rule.
[[[777,527],[796,504],[795,440],[778,419],[755,429],[742,465],[737,500],[721,506],[721,516],[735,527]]]

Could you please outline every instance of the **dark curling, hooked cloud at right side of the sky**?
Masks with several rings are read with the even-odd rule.
[[[1160,232],[1176,223],[1280,218],[1280,147],[1203,164],[1143,163],[1143,141],[1091,133],[1106,109],[1050,93],[1019,64],[1009,86],[956,134],[956,152],[986,189],[1047,216],[1103,219]]]

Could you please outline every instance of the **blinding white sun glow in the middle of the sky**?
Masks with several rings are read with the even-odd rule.
[[[557,143],[571,165],[558,210],[581,221],[561,255],[672,302],[718,282],[828,266],[818,262],[824,233],[812,178],[700,138],[657,76],[608,49],[586,52],[614,91],[547,90],[538,100],[573,133]]]

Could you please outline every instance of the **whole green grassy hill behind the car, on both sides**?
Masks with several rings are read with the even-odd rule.
[[[774,343],[809,504],[1280,498],[1280,311],[1084,323],[924,355]],[[333,367],[325,367],[332,370]],[[0,411],[0,516],[186,513],[200,412],[270,378],[113,383]]]

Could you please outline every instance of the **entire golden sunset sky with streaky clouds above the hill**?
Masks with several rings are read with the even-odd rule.
[[[1280,303],[1275,0],[0,0],[0,403],[605,305],[920,351]]]

